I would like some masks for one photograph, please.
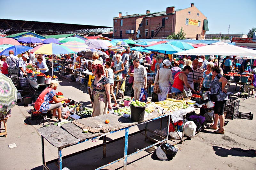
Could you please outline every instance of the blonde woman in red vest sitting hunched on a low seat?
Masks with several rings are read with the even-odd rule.
[[[56,80],[52,80],[49,87],[44,89],[44,91],[38,96],[35,102],[35,109],[40,112],[45,112],[49,110],[53,110],[52,117],[57,117],[59,122],[61,121],[61,109],[62,109],[62,101],[68,101],[67,97],[57,98],[56,89],[60,84]],[[55,103],[52,103],[55,102]],[[58,115],[56,114],[58,111]]]

